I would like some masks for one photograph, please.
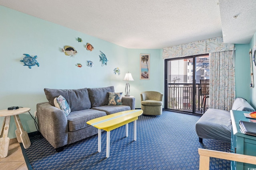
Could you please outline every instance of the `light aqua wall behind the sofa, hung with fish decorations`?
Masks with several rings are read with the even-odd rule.
[[[116,92],[124,92],[126,72],[132,73],[130,93],[140,108],[140,93],[145,90],[163,92],[163,63],[160,49],[126,49],[96,37],[44,21],[15,10],[0,6],[0,109],[10,106],[30,107],[32,115],[36,104],[47,102],[44,88],[76,89],[114,86]],[[117,35],[118,36],[118,35]],[[76,37],[83,42],[76,41]],[[94,50],[84,45],[91,43]],[[74,57],[64,55],[65,45],[75,47]],[[101,66],[100,51],[108,58],[107,66]],[[29,69],[20,60],[24,53],[37,55],[40,66]],[[150,80],[140,80],[140,53],[150,54]],[[94,62],[92,68],[86,61]],[[82,68],[75,64],[81,63]],[[119,67],[120,76],[114,74]],[[28,113],[20,115],[26,131],[36,131],[34,120]],[[2,126],[3,117],[0,117]],[[11,118],[9,137],[15,138],[16,127]]]

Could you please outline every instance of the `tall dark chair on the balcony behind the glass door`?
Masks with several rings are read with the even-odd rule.
[[[199,91],[200,91],[200,95],[203,96],[202,104],[201,104],[201,113],[202,113],[203,108],[204,108],[204,112],[205,112],[206,99],[208,100],[208,98],[209,98],[209,85],[210,85],[209,79],[201,79],[200,80]]]

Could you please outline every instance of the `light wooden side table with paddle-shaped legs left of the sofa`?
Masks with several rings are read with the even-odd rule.
[[[22,143],[24,148],[27,149],[30,147],[30,139],[28,137],[28,133],[24,131],[22,124],[20,122],[19,114],[26,113],[30,111],[30,108],[20,107],[16,110],[0,110],[0,117],[4,117],[4,122],[0,131],[0,158],[5,158],[8,155],[9,142],[10,138],[8,138],[8,131],[10,126],[11,116],[14,117],[14,121],[17,127],[15,131],[18,143]]]

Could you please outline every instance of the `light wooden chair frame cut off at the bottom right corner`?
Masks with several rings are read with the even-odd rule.
[[[200,149],[200,148],[198,149],[198,153],[199,153],[199,170],[209,170],[210,157],[256,165],[256,156],[236,154],[236,153],[230,153],[230,152],[221,152],[217,150],[208,150],[208,149]],[[248,168],[248,170],[249,169],[254,169],[254,168]]]

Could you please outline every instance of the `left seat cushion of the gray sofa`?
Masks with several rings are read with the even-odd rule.
[[[106,116],[106,112],[95,109],[72,111],[68,116],[68,131],[76,131],[90,126],[86,122],[98,117]]]

